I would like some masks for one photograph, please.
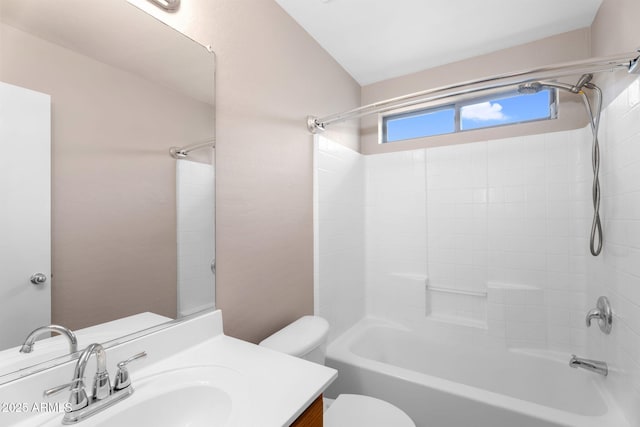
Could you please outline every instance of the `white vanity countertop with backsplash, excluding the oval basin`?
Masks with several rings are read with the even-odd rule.
[[[196,373],[195,381],[204,384],[205,380],[200,381],[198,377],[201,372],[224,371],[229,373],[227,377],[231,379],[225,380],[225,375],[222,375],[219,377],[220,384],[224,381],[233,383],[229,389],[233,389],[233,414],[224,425],[289,426],[337,377],[334,369],[224,335],[219,310],[107,349],[107,368],[111,376],[115,373],[118,361],[140,351],[146,351],[148,356],[130,366],[132,385],[134,388],[136,384],[139,386],[136,392],[79,425],[115,425],[109,421],[114,411],[122,411],[122,408],[127,410],[145,402],[142,399],[150,390],[147,384],[152,384],[149,379],[182,378]],[[87,384],[91,383],[95,372],[93,359],[87,365]],[[71,380],[73,367],[73,363],[67,363],[4,384],[0,386],[0,402],[24,402],[27,408],[33,404],[37,406],[44,400],[43,390]],[[216,384],[215,380],[213,384]],[[68,392],[65,391],[54,399],[47,399],[47,402],[54,406],[58,403],[62,407],[67,398]],[[171,407],[177,412],[188,411],[185,403],[178,397],[172,401]],[[62,416],[63,413],[59,411],[0,413],[0,425],[58,426]]]

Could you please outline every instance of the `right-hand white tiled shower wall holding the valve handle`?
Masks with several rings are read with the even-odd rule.
[[[609,384],[629,418],[640,425],[640,82],[606,109],[600,133],[604,248],[587,259],[588,308],[611,301],[611,335],[587,330],[588,356],[609,364]]]

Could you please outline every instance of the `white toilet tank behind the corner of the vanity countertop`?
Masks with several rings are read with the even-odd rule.
[[[303,316],[260,342],[267,347],[324,365],[329,322],[318,316]]]

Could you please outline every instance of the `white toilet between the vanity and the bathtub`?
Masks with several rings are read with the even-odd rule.
[[[329,322],[325,319],[318,316],[303,316],[263,340],[260,345],[324,365],[328,334]],[[325,410],[324,427],[344,426],[415,427],[416,425],[407,414],[389,402],[359,394],[341,394]]]

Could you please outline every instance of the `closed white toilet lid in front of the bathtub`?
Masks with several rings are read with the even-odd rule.
[[[341,394],[324,413],[324,427],[416,427],[389,402],[359,394]]]

